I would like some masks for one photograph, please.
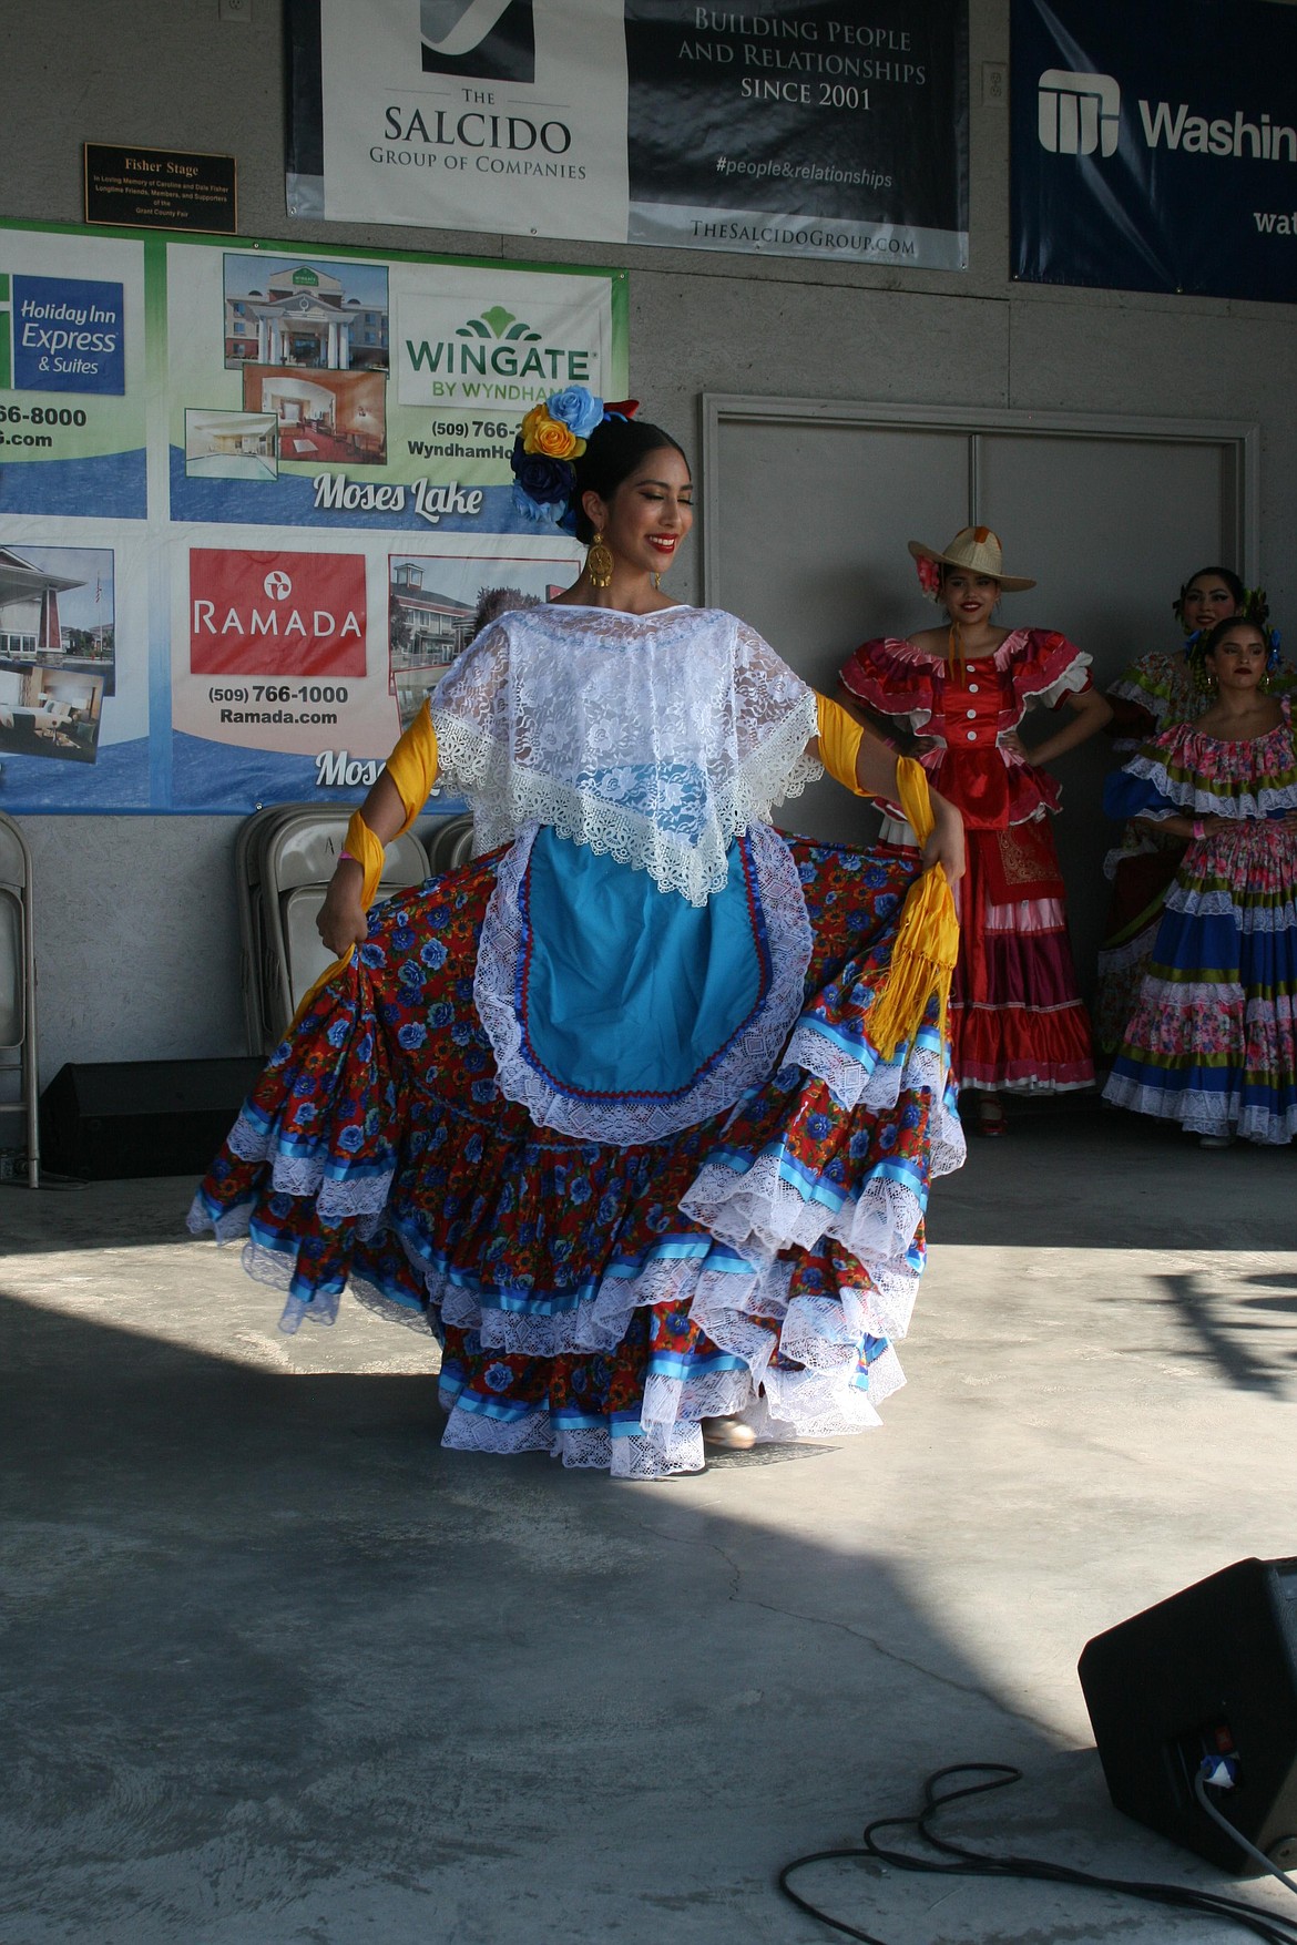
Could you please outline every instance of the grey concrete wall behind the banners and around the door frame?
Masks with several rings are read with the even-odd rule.
[[[235,154],[249,235],[624,263],[634,391],[686,447],[700,391],[1256,420],[1264,578],[1276,617],[1297,613],[1289,313],[1009,280],[1007,115],[980,105],[982,62],[1007,56],[1007,0],[970,0],[972,266],[963,276],[294,224],[284,216],[278,0],[251,0],[251,14],[220,23],[218,0],[23,8],[0,74],[2,214],[78,222],[80,144],[150,142]],[[681,574],[684,593],[696,593],[696,554]],[[1112,601],[1122,601],[1116,585]],[[1066,626],[1066,617],[1050,620]],[[239,1052],[235,821],[33,817],[23,827],[41,895],[45,1076],[64,1060]]]

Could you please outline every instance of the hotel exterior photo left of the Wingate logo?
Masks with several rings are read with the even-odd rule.
[[[226,366],[241,364],[387,371],[387,270],[228,255]]]

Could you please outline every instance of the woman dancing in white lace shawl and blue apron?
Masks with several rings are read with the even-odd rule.
[[[572,387],[519,506],[585,568],[492,622],[352,819],[325,976],[194,1225],[329,1321],[350,1278],[443,1344],[445,1445],[655,1478],[877,1422],[900,1381],[947,1087],[959,815],[751,628],[659,593],[679,445]],[[366,918],[438,772],[474,864]],[[900,792],[922,858],[784,840],[826,766]],[[945,971],[943,971],[945,969]]]

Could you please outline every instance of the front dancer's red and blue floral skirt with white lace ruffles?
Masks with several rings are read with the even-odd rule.
[[[191,1227],[247,1237],[286,1330],[331,1323],[348,1286],[432,1330],[451,1447],[657,1478],[702,1467],[710,1416],[760,1439],[877,1424],[928,1186],[963,1134],[935,1004],[891,1062],[867,1031],[916,854],[786,842],[811,924],[801,1013],[733,1105],[620,1144],[502,1095],[474,1004],[494,852],[371,914]]]

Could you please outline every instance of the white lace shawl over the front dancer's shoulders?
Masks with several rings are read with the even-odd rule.
[[[731,838],[821,774],[815,690],[723,609],[502,615],[432,722],[478,852],[552,825],[690,904],[723,887]]]

